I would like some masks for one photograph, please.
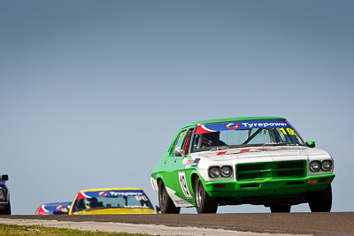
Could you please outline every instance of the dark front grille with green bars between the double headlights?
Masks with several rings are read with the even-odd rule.
[[[306,174],[306,161],[237,164],[237,180],[302,178]]]

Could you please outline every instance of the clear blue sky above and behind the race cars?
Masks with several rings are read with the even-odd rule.
[[[326,149],[333,211],[352,211],[353,10],[350,0],[1,0],[0,173],[12,213],[91,187],[142,187],[156,205],[150,171],[181,126],[246,116],[288,118]]]

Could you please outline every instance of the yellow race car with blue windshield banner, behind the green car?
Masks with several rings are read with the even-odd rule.
[[[73,199],[69,215],[157,214],[140,188],[81,190]]]

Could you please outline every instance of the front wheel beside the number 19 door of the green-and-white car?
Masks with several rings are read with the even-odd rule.
[[[218,210],[218,200],[205,192],[205,188],[199,177],[196,177],[194,190],[196,211],[198,214],[216,213]]]

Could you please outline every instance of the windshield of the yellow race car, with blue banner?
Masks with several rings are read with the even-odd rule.
[[[94,209],[153,209],[145,194],[117,194],[114,191],[87,192],[78,196],[73,212]],[[127,193],[127,192],[126,192]],[[130,192],[132,193],[132,192]]]

